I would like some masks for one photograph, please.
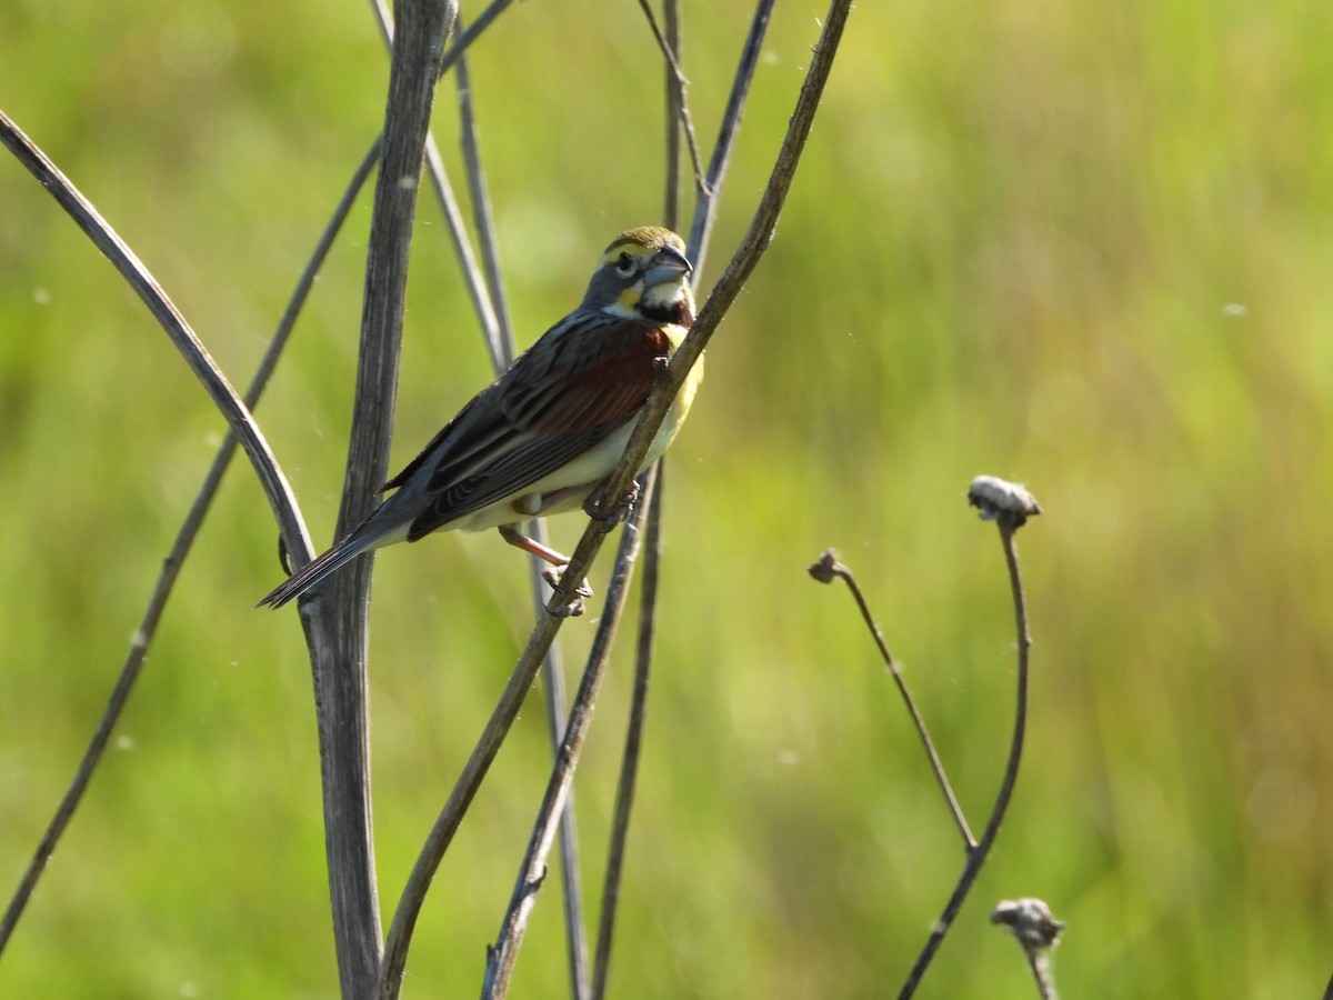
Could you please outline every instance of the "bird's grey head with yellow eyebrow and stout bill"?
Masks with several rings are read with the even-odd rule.
[[[690,271],[685,241],[670,229],[629,229],[603,252],[584,308],[688,327],[694,320]]]

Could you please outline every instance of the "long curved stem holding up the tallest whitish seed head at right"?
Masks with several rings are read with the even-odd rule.
[[[1028,632],[1028,603],[1022,591],[1022,575],[1018,571],[1018,551],[1014,545],[1013,536],[1018,527],[1022,525],[1025,515],[1008,509],[996,509],[988,512],[988,516],[993,517],[1000,528],[1000,543],[1004,547],[1005,563],[1009,568],[1009,589],[1013,595],[1013,609],[1017,627],[1018,692],[1017,708],[1014,711],[1013,720],[1013,737],[1009,743],[1009,757],[1005,763],[1004,777],[1000,783],[1000,792],[996,796],[994,807],[990,809],[990,819],[986,821],[986,828],[981,833],[981,840],[977,841],[977,845],[968,853],[966,864],[962,868],[962,875],[958,876],[958,883],[953,889],[953,895],[949,896],[949,901],[945,904],[944,912],[934,923],[934,928],[930,931],[930,936],[926,939],[925,947],[921,949],[916,964],[912,967],[906,981],[902,984],[902,989],[898,993],[900,1000],[912,996],[916,992],[916,988],[921,984],[921,977],[925,975],[934,953],[944,943],[944,936],[949,933],[949,928],[953,927],[953,921],[958,916],[958,911],[962,908],[962,903],[968,897],[968,892],[972,889],[977,875],[980,875],[981,867],[985,864],[986,856],[990,853],[996,836],[1000,833],[1000,825],[1004,823],[1005,813],[1009,809],[1009,799],[1013,795],[1014,783],[1018,780],[1018,764],[1022,760],[1022,743],[1028,727],[1028,651],[1032,647],[1032,637]]]

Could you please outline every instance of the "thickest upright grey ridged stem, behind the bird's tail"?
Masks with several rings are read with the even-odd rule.
[[[337,537],[356,527],[388,472],[404,297],[425,139],[455,0],[400,0],[361,311],[361,348]],[[368,996],[381,955],[371,819],[368,608],[373,560],[301,599],[311,649],[324,788],[325,845],[339,977]]]

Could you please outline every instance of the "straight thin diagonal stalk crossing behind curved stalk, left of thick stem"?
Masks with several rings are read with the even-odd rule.
[[[333,217],[324,227],[324,232],[320,235],[315,252],[311,255],[311,259],[305,264],[305,269],[297,279],[296,288],[287,303],[287,308],[283,311],[283,317],[279,320],[277,329],[273,332],[273,337],[269,340],[269,345],[264,352],[264,357],[260,360],[249,388],[245,391],[247,407],[253,409],[253,407],[259,403],[260,396],[263,396],[264,389],[268,387],[268,381],[272,377],[273,371],[277,367],[277,361],[283,355],[283,349],[287,347],[287,341],[296,325],[296,319],[300,316],[311,288],[315,285],[315,279],[319,275],[320,268],[324,265],[324,260],[333,245],[335,237],[343,228],[343,223],[347,221],[347,216],[352,211],[357,192],[361,189],[365,179],[371,175],[371,171],[375,169],[376,160],[377,155],[363,159],[352,183],[348,185],[348,189],[343,193],[341,200],[333,209]],[[217,453],[213,456],[212,465],[209,465],[208,472],[204,476],[204,481],[199,488],[195,503],[191,505],[185,515],[185,520],[181,523],[176,540],[172,543],[167,557],[163,560],[163,568],[157,577],[157,584],[148,600],[148,607],[144,609],[144,616],[139,623],[139,628],[135,631],[135,640],[129,647],[129,652],[125,655],[125,661],[120,668],[120,676],[116,679],[116,684],[107,700],[107,707],[103,709],[97,728],[93,731],[92,739],[88,741],[88,748],[84,751],[83,760],[79,763],[73,780],[69,783],[69,787],[65,789],[65,795],[60,800],[60,805],[51,817],[51,821],[41,836],[41,841],[37,844],[36,851],[33,851],[32,860],[28,863],[28,867],[23,873],[23,879],[19,883],[19,888],[15,891],[15,895],[9,901],[4,920],[0,921],[0,953],[4,952],[5,944],[13,933],[13,929],[23,915],[24,907],[27,907],[28,899],[32,896],[32,892],[37,885],[37,880],[41,877],[41,872],[47,867],[47,861],[51,860],[56,845],[60,843],[60,837],[69,825],[69,820],[73,819],[75,811],[79,808],[80,801],[83,801],[84,792],[87,792],[88,784],[92,781],[93,772],[97,769],[97,765],[105,753],[107,745],[111,740],[111,733],[115,731],[116,724],[120,721],[120,716],[124,713],[125,705],[129,703],[129,696],[139,680],[139,675],[143,672],[144,657],[148,655],[148,648],[157,632],[161,615],[167,608],[167,600],[171,597],[172,589],[176,585],[176,579],[180,575],[180,569],[184,565],[185,559],[189,556],[195,539],[199,536],[199,529],[203,527],[204,519],[212,508],[213,499],[217,496],[217,489],[223,483],[223,476],[231,467],[232,457],[236,455],[236,432],[228,431],[227,437],[223,440]]]

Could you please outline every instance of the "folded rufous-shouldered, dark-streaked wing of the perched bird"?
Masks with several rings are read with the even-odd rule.
[[[644,405],[657,359],[669,352],[666,335],[651,324],[603,312],[568,316],[391,481],[401,487],[431,469],[429,505],[408,537],[519,493],[613,433]]]

